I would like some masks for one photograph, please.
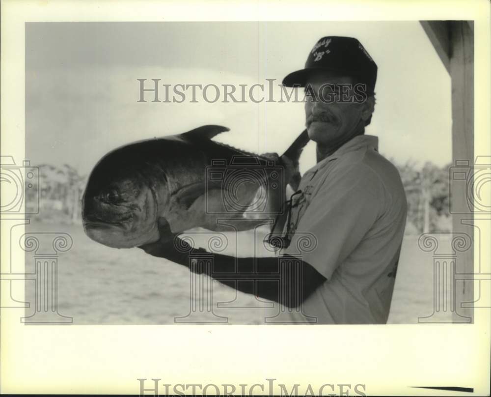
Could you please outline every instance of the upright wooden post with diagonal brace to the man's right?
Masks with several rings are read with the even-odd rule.
[[[450,211],[454,234],[466,233],[474,241],[474,208],[469,202],[469,178],[474,165],[474,22],[473,21],[421,21],[436,53],[452,80],[452,163],[450,176]],[[452,177],[458,169],[460,178]],[[462,172],[461,172],[462,171]],[[472,181],[470,181],[472,182]],[[471,185],[472,186],[472,185]],[[474,253],[472,244],[457,252],[456,312],[457,317],[473,317]],[[461,276],[459,276],[459,274]]]

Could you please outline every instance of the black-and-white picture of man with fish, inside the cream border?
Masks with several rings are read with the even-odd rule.
[[[425,31],[440,28],[472,79],[468,21],[27,23],[26,228],[73,240],[59,314],[470,321],[438,307],[427,250],[453,254],[452,81]]]

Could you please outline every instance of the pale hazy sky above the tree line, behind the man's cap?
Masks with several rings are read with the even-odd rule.
[[[199,95],[191,103],[191,91],[183,103],[138,103],[137,79],[237,87],[275,79],[279,98],[283,77],[327,35],[356,37],[378,64],[366,134],[379,137],[380,152],[398,164],[450,163],[450,77],[416,21],[27,23],[26,158],[87,174],[122,144],[204,124],[231,129],[219,142],[281,154],[304,128],[303,104]],[[300,170],[314,164],[310,142]]]

